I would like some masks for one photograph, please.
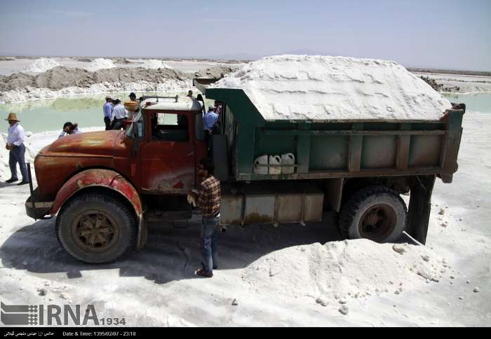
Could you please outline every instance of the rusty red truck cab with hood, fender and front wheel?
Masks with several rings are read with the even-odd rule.
[[[75,258],[114,261],[144,246],[146,220],[191,216],[187,191],[207,151],[200,102],[142,97],[126,130],[73,134],[36,155],[27,214],[58,214],[58,238]]]

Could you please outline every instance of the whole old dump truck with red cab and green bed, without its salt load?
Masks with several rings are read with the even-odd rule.
[[[345,237],[387,242],[406,230],[426,240],[434,181],[457,170],[465,106],[427,121],[269,121],[243,90],[208,83],[194,84],[223,106],[212,149],[222,225],[318,222],[330,210]],[[60,244],[79,261],[116,261],[144,247],[147,221],[191,217],[203,137],[200,102],[142,97],[128,130],[73,134],[36,155],[27,214],[55,217]],[[264,155],[280,160],[261,163]]]

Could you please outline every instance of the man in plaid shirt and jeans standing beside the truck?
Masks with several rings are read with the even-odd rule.
[[[201,221],[200,246],[203,255],[203,268],[197,270],[196,275],[201,277],[213,277],[213,269],[217,268],[218,234],[220,233],[219,216],[220,180],[213,177],[215,167],[210,159],[203,159],[199,163],[198,174],[203,177],[199,194],[189,192],[196,198],[196,205],[201,209],[203,219]]]

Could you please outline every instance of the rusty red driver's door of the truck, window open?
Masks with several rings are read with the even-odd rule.
[[[194,143],[186,115],[152,113],[151,141],[142,145],[142,190],[186,194],[194,184]]]

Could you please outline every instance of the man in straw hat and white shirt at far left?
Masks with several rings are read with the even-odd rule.
[[[5,148],[10,151],[10,154],[8,155],[8,164],[11,166],[11,179],[8,179],[6,182],[10,184],[19,180],[17,177],[17,163],[19,163],[20,173],[22,174],[22,181],[20,181],[19,185],[29,184],[24,158],[24,128],[20,125],[15,113],[9,113],[8,118],[5,120],[8,121],[8,125],[11,125],[11,127],[8,127],[7,144],[5,145]]]

